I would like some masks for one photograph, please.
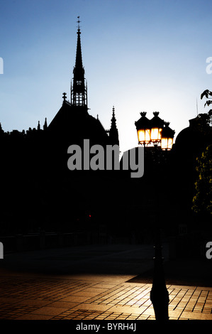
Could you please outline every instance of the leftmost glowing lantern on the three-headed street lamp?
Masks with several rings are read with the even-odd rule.
[[[138,143],[139,144],[149,144],[151,141],[151,129],[150,120],[145,116],[146,112],[140,112],[140,119],[135,122],[135,126],[138,133]]]

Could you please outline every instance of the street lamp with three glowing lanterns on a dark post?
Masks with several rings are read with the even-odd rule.
[[[141,112],[141,118],[135,122],[138,133],[138,143],[145,146],[153,144],[154,146],[161,146],[163,151],[170,151],[172,149],[174,130],[169,128],[169,123],[164,122],[158,116],[159,112],[153,112],[154,117],[149,120],[145,112]],[[157,186],[157,185],[155,185]],[[156,206],[156,198],[154,207]],[[160,244],[160,228],[156,224],[157,217],[152,216],[154,222],[155,234],[155,257],[154,257],[154,275],[152,281],[152,290],[150,291],[150,300],[155,311],[156,320],[169,320],[169,293],[164,279],[162,247]]]

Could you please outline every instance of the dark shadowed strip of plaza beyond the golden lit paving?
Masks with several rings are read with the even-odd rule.
[[[51,275],[126,275],[132,283],[152,283],[154,248],[140,244],[105,244],[6,254],[0,269]],[[212,286],[212,260],[170,259],[163,247],[166,284]],[[128,277],[127,277],[128,276]]]

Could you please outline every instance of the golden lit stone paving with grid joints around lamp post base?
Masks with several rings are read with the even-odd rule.
[[[0,319],[153,320],[151,284],[0,277]],[[212,288],[167,286],[169,318],[212,320]]]

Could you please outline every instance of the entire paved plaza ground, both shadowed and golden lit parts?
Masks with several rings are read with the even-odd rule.
[[[164,254],[166,264],[166,247]],[[5,254],[0,319],[154,320],[152,282],[145,275],[152,256],[152,247],[141,245]],[[170,320],[212,320],[212,286],[167,282]]]

